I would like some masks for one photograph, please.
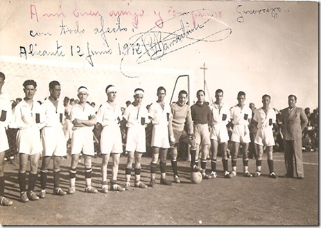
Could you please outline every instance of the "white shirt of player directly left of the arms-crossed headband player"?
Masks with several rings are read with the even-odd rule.
[[[47,98],[41,105],[44,113],[45,127],[62,128],[62,120],[64,116],[64,105],[58,100],[58,107]]]

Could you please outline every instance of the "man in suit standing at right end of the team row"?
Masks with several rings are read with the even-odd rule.
[[[308,123],[304,109],[296,107],[297,97],[293,94],[288,96],[288,107],[282,110],[284,123],[284,159],[286,163],[285,177],[293,177],[293,157],[297,178],[303,179],[302,161],[302,131]]]

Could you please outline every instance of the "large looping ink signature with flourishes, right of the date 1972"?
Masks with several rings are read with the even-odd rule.
[[[164,56],[174,53],[175,51],[180,51],[188,46],[196,44],[198,42],[219,42],[227,39],[229,35],[232,34],[232,29],[225,28],[222,30],[211,31],[206,29],[207,23],[211,21],[214,17],[214,13],[210,17],[204,18],[204,21],[199,24],[193,25],[189,22],[184,21],[184,16],[190,16],[193,12],[198,11],[209,11],[207,9],[193,10],[191,12],[184,12],[177,17],[172,17],[166,21],[162,22],[164,24],[174,23],[178,27],[177,29],[167,32],[159,29],[159,26],[154,26],[144,33],[137,33],[130,37],[129,42],[130,47],[135,46],[137,51],[137,59],[135,60],[137,64],[143,64],[150,60],[159,60]],[[135,40],[135,41],[132,41]],[[128,78],[136,78],[129,76],[122,70],[123,62],[126,58],[126,54],[123,54],[121,58],[120,70],[123,76]]]

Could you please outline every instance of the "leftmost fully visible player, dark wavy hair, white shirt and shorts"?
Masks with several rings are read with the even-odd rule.
[[[38,162],[42,143],[40,129],[43,127],[40,117],[42,109],[40,103],[33,100],[37,91],[37,83],[34,80],[26,80],[23,84],[25,97],[13,110],[10,128],[19,129],[17,132],[17,150],[19,152],[18,182],[21,193],[21,202],[39,200],[33,192],[37,181]],[[28,192],[26,191],[26,169],[30,160],[31,170],[28,176]]]

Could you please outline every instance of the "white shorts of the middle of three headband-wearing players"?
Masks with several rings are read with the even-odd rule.
[[[121,142],[119,125],[105,126],[101,131],[101,153],[108,155],[110,153],[121,154],[122,152],[123,143]]]

